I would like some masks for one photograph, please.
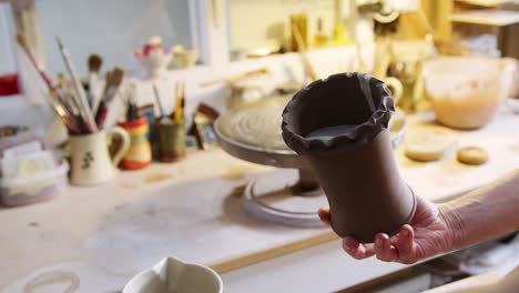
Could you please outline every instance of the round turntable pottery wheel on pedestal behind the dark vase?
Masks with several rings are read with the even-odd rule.
[[[214,124],[223,150],[238,159],[297,170],[276,170],[251,181],[242,206],[252,216],[293,226],[323,226],[317,210],[328,206],[317,179],[303,156],[289,150],[282,138],[282,113],[292,97],[262,99],[230,110]],[[390,121],[396,148],[406,131],[406,119],[397,111]]]

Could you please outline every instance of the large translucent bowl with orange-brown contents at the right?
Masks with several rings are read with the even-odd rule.
[[[436,119],[456,129],[486,125],[510,92],[515,67],[506,58],[442,57],[428,61],[425,88]]]

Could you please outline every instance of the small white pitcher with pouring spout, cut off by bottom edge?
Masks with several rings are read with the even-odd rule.
[[[220,275],[207,266],[166,257],[135,275],[122,293],[222,293]]]

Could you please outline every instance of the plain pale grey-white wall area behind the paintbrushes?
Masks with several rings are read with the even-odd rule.
[[[80,74],[86,74],[90,53],[103,57],[103,69],[140,70],[133,52],[147,37],[161,36],[164,46],[193,44],[190,0],[38,0],[48,71],[65,68],[55,44],[59,36]]]

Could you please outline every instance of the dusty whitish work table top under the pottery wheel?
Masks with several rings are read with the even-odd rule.
[[[420,119],[411,119],[410,131],[429,127]],[[487,164],[462,165],[454,154],[418,163],[401,148],[396,158],[416,193],[448,200],[519,168],[519,115],[501,113],[481,130],[459,132],[458,145],[474,144],[489,151]],[[246,163],[216,149],[175,164],[122,172],[102,186],[71,186],[47,203],[0,210],[0,292],[24,292],[41,275],[81,282],[77,292],[116,292],[167,255],[214,264],[329,233],[247,216],[240,194],[264,172],[293,175],[294,170]]]

